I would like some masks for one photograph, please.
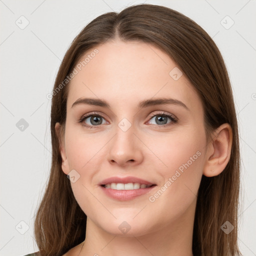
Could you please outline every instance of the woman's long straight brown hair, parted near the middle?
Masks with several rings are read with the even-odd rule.
[[[88,23],[74,38],[59,67],[51,101],[52,162],[34,222],[41,256],[60,256],[85,239],[86,215],[61,170],[55,123],[64,132],[68,82],[85,52],[115,38],[142,41],[166,52],[191,81],[201,98],[207,132],[222,123],[232,128],[230,160],[217,176],[202,175],[195,209],[192,252],[195,256],[241,255],[237,246],[239,141],[232,90],[222,56],[210,36],[193,20],[167,7],[138,4],[109,12]],[[63,83],[66,81],[66,84]],[[60,86],[62,84],[62,86]],[[221,225],[234,229],[226,234]]]

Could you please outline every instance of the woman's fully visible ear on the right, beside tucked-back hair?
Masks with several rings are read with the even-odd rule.
[[[221,124],[212,133],[212,139],[207,145],[203,175],[217,176],[222,172],[230,159],[232,145],[232,129],[228,123]]]

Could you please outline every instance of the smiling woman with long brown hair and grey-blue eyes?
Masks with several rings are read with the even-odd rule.
[[[51,138],[41,256],[241,255],[232,90],[188,17],[140,4],[92,20],[60,65]]]

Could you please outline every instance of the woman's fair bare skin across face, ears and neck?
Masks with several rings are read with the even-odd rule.
[[[98,53],[68,85],[63,136],[59,123],[55,125],[62,170],[79,173],[77,181],[70,183],[87,215],[82,250],[80,243],[64,255],[191,256],[201,176],[218,175],[226,166],[232,142],[230,125],[222,124],[212,132],[212,139],[206,139],[197,92],[184,73],[177,80],[169,75],[178,66],[157,47],[115,39],[96,48]],[[72,106],[85,97],[103,99],[110,108]],[[171,103],[138,108],[139,101],[158,97],[179,100],[186,107]],[[167,117],[159,122],[156,117],[162,112],[177,121]],[[79,122],[89,113],[101,115],[101,124],[91,122],[91,117]],[[123,118],[131,124],[126,131],[118,126]],[[151,202],[149,196],[198,151],[200,156]],[[135,176],[156,186],[147,194],[119,201],[106,196],[98,185],[112,176]],[[130,226],[125,234],[118,228],[123,221]]]

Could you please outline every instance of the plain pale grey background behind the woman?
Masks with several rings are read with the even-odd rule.
[[[46,94],[51,92],[65,51],[96,16],[142,2],[187,15],[206,30],[223,55],[240,129],[238,241],[244,255],[256,255],[255,0],[0,0],[0,255],[37,250],[34,211],[51,161],[50,100]],[[23,27],[26,22],[29,24]]]

